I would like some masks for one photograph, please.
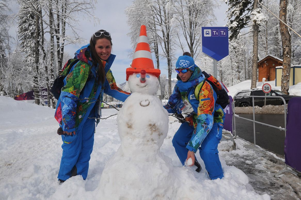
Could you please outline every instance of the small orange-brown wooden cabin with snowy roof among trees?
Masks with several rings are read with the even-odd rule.
[[[276,78],[277,66],[282,66],[283,60],[272,55],[267,55],[258,61],[258,82],[262,82],[262,78],[265,81],[274,81]]]

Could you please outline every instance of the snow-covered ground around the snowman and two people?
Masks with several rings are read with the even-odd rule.
[[[115,109],[103,109],[103,116],[115,112]],[[76,176],[59,185],[56,177],[62,141],[56,134],[58,126],[53,117],[54,109],[0,96],[0,113],[0,199],[95,199],[104,166],[121,143],[116,115],[102,120],[96,128],[87,180]],[[174,121],[170,117],[169,133],[161,152],[172,159],[177,171],[194,176],[187,179],[194,180],[203,194],[200,198],[267,200],[301,197],[298,177],[288,173],[281,178],[273,177],[275,172],[284,168],[280,158],[252,146],[249,148],[242,140],[235,140],[237,150],[230,152],[222,151],[228,149],[228,142],[220,143],[219,155],[225,173],[222,180],[209,180],[199,154],[197,158],[203,167],[200,173],[194,168],[182,167],[171,142],[180,125]],[[183,179],[183,186],[185,183]],[[118,192],[118,189],[112,189],[112,192]]]

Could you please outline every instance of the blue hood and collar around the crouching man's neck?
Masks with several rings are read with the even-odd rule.
[[[188,91],[189,88],[196,86],[205,79],[202,74],[201,69],[195,65],[194,72],[192,73],[190,79],[187,82],[182,82],[181,79],[178,80],[178,88],[180,91]]]

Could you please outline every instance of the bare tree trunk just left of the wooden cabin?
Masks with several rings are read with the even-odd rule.
[[[257,8],[258,0],[254,0],[254,10]],[[253,65],[252,65],[252,81],[251,89],[256,88],[257,81],[257,62],[258,62],[258,24],[255,22],[253,26]]]

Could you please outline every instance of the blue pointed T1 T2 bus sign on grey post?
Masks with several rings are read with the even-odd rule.
[[[213,75],[217,78],[217,63],[229,55],[228,27],[202,27],[202,51],[213,59]]]

